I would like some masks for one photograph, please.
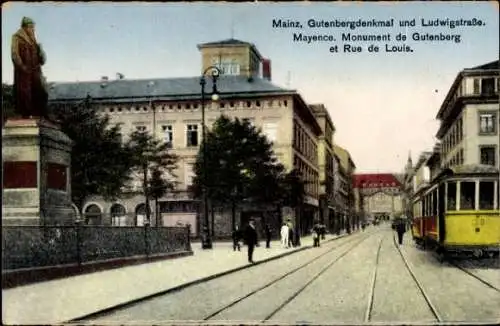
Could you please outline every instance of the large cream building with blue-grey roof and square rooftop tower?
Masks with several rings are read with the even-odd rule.
[[[220,99],[206,103],[206,122],[210,127],[221,114],[248,119],[274,144],[274,151],[287,170],[299,170],[306,181],[303,230],[318,216],[319,174],[318,137],[322,128],[314,112],[294,90],[270,82],[270,61],[263,59],[256,47],[234,39],[198,46],[202,54],[202,72],[209,65],[218,66],[223,74],[217,82]],[[161,198],[158,217],[162,225],[191,224],[193,233],[201,226],[198,202],[188,187],[193,178],[193,163],[201,142],[200,77],[55,83],[50,101],[66,105],[91,97],[92,104],[112,123],[120,123],[124,135],[134,130],[150,131],[168,142],[179,156],[176,171],[178,188]],[[211,82],[207,81],[207,89]],[[132,185],[140,189],[138,181]],[[152,204],[152,203],[151,203]],[[252,211],[252,209],[254,211]],[[152,210],[154,211],[154,210]],[[87,223],[105,225],[141,225],[144,221],[144,197],[137,193],[116,202],[100,197],[87,198],[83,214]],[[284,214],[288,214],[284,212]],[[211,229],[215,235],[231,232],[231,213],[222,209],[212,214]],[[282,212],[277,215],[282,215]],[[259,208],[242,208],[237,223],[249,216],[273,219]],[[156,217],[152,217],[154,225]],[[274,224],[274,223],[273,223]]]

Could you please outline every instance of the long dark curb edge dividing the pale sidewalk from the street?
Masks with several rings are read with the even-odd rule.
[[[344,238],[344,237],[346,237],[348,235],[349,234],[344,233],[344,234],[341,234],[341,235],[339,235],[339,236],[337,236],[335,238],[325,239],[325,240],[322,241],[322,243],[326,243],[326,242],[331,242],[331,241],[334,241],[334,240],[338,240],[338,239]],[[185,289],[187,287],[190,287],[190,286],[193,286],[193,285],[196,285],[196,284],[200,284],[200,283],[203,283],[203,282],[211,281],[213,279],[216,279],[216,278],[228,275],[228,274],[232,274],[232,273],[241,271],[243,269],[252,268],[254,266],[257,266],[257,265],[260,265],[260,264],[263,264],[263,263],[267,263],[267,262],[270,262],[270,261],[273,261],[273,260],[276,260],[276,259],[279,259],[279,258],[283,258],[285,256],[289,256],[289,255],[292,255],[294,253],[297,253],[297,252],[300,252],[300,251],[303,251],[303,250],[307,250],[307,249],[311,249],[311,248],[313,248],[312,245],[302,246],[299,249],[296,249],[296,250],[293,250],[293,251],[290,251],[290,252],[285,252],[285,253],[282,253],[282,254],[279,254],[279,255],[276,255],[276,256],[273,256],[273,257],[269,257],[269,258],[260,260],[258,262],[255,262],[254,264],[247,264],[247,265],[243,265],[243,266],[239,266],[239,267],[236,267],[236,268],[232,268],[232,269],[226,270],[224,272],[220,272],[220,273],[216,273],[216,274],[213,274],[213,275],[210,275],[210,276],[202,277],[200,279],[197,279],[197,280],[194,280],[194,281],[191,281],[191,282],[187,282],[187,283],[184,283],[184,284],[181,284],[181,285],[178,285],[178,286],[174,286],[172,288],[168,288],[168,289],[162,290],[160,292],[149,294],[149,295],[137,298],[137,299],[129,300],[127,302],[119,303],[119,304],[116,304],[114,306],[111,306],[111,307],[108,307],[108,308],[104,308],[104,309],[92,312],[90,314],[86,314],[86,315],[83,315],[83,316],[80,316],[80,317],[76,317],[76,318],[70,319],[70,320],[68,320],[68,321],[66,321],[64,323],[82,322],[83,319],[98,317],[98,316],[100,316],[102,314],[106,314],[106,313],[111,312],[111,311],[116,310],[116,309],[126,308],[128,306],[132,306],[132,305],[134,305],[134,304],[136,304],[138,302],[144,301],[144,300],[149,300],[149,299],[153,299],[155,297],[159,297],[159,296],[162,296],[162,295],[165,295],[165,294],[177,292],[177,291],[183,290],[183,289]]]

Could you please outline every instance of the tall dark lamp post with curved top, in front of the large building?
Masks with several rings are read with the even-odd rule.
[[[207,81],[205,80],[205,75],[211,71],[212,75],[212,100],[217,101],[219,96],[217,94],[217,78],[220,75],[219,68],[215,66],[210,66],[200,77],[200,86],[201,86],[201,129],[203,135],[203,189],[202,189],[202,198],[203,198],[203,217],[204,217],[204,226],[202,229],[202,241],[201,248],[202,249],[212,249],[212,239],[210,238],[210,233],[208,230],[208,197],[207,197],[207,146],[205,146],[205,140],[207,136],[206,126],[205,126],[205,85]]]

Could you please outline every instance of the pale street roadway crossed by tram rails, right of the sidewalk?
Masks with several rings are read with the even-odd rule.
[[[496,261],[468,264],[500,277]],[[80,323],[498,324],[499,307],[500,289],[440,263],[409,233],[397,245],[383,224]]]

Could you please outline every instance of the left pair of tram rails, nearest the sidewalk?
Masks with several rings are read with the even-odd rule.
[[[376,233],[376,232],[375,232]],[[212,312],[211,314],[207,315],[205,318],[203,318],[204,321],[209,321],[209,320],[212,320],[212,318],[216,317],[217,315],[221,314],[222,312],[230,309],[231,307],[237,305],[238,303],[241,303],[259,293],[261,293],[263,290],[277,284],[278,282],[284,280],[286,277],[288,276],[291,276],[295,273],[297,273],[298,271],[306,268],[306,267],[309,267],[311,266],[311,264],[315,261],[317,261],[318,259],[328,255],[328,254],[331,254],[333,251],[336,251],[338,249],[341,249],[353,242],[355,242],[355,244],[353,246],[350,246],[347,250],[345,250],[344,252],[342,252],[338,257],[336,257],[334,260],[332,260],[330,263],[326,264],[324,267],[322,267],[320,269],[319,272],[317,272],[313,277],[311,277],[306,283],[304,283],[302,286],[299,287],[299,289],[297,289],[296,291],[294,291],[290,296],[288,296],[285,300],[282,301],[282,303],[275,309],[273,309],[273,311],[271,313],[269,313],[268,315],[266,315],[261,322],[266,322],[268,321],[269,319],[271,319],[273,316],[275,316],[279,311],[281,311],[284,307],[286,307],[292,300],[294,300],[300,293],[302,293],[308,286],[310,286],[318,277],[320,277],[323,273],[325,273],[331,266],[333,266],[335,263],[337,263],[340,259],[342,259],[345,255],[347,255],[349,252],[351,252],[354,248],[356,248],[357,246],[359,246],[362,242],[366,241],[367,239],[369,239],[371,236],[373,236],[374,233],[371,233],[371,234],[367,234],[366,236],[364,236],[361,240],[358,240],[358,239],[350,239],[349,241],[346,241],[345,243],[342,243],[340,244],[339,246],[336,246],[334,248],[331,248],[330,250],[326,251],[325,253],[322,253],[321,255],[319,255],[318,257],[315,257],[314,259],[312,260],[309,260],[308,262],[294,268],[293,270],[287,272],[286,274],[283,274],[281,275],[280,277],[277,277],[275,278],[274,280],[270,281],[270,282],[267,282],[266,284],[264,284],[263,286],[259,287],[258,289],[250,292],[250,293],[247,293],[246,295],[232,301],[231,303],[229,304],[226,304],[224,307],[222,308],[219,308],[217,309],[216,311]]]

